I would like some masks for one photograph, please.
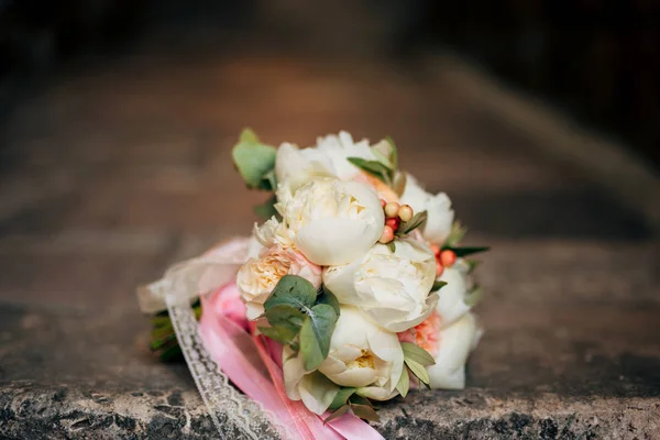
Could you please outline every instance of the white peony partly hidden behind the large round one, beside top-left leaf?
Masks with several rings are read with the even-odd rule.
[[[288,142],[277,148],[275,176],[286,182],[292,189],[298,188],[315,177],[334,176],[332,162],[318,148],[298,148]]]

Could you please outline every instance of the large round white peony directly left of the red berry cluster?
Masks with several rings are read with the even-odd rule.
[[[360,257],[383,233],[381,201],[361,183],[318,178],[295,191],[285,183],[277,199],[295,246],[321,266]]]

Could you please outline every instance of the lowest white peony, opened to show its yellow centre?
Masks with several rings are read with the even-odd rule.
[[[396,333],[373,323],[358,308],[342,306],[328,358],[319,366],[330,381],[387,400],[397,393],[404,352]]]

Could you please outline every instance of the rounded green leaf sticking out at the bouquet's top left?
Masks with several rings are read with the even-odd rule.
[[[262,144],[252,130],[245,129],[231,155],[248,187],[274,189],[272,177],[268,176],[275,168],[277,155],[273,146]]]

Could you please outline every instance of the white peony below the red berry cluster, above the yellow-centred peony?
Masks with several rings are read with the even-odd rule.
[[[393,253],[376,244],[361,258],[323,271],[324,285],[340,304],[360,307],[389,331],[404,331],[424,321],[438,296],[430,293],[436,278],[432,251],[413,239],[395,242]]]

